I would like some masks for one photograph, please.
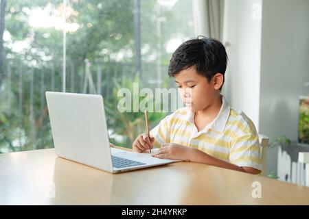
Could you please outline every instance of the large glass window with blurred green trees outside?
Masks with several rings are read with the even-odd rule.
[[[120,116],[117,90],[133,82],[170,86],[172,52],[194,36],[190,0],[1,0],[3,5],[0,153],[53,147],[45,91],[64,88],[102,94],[111,142],[130,146],[144,132],[144,115]],[[163,116],[150,115],[150,126]]]

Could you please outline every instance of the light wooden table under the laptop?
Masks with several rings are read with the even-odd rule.
[[[113,175],[44,149],[0,155],[0,204],[309,205],[309,188],[190,162]]]

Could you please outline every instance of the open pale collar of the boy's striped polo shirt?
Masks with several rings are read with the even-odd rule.
[[[214,120],[209,123],[209,125],[207,125],[204,129],[202,129],[201,131],[199,131],[199,133],[201,132],[207,132],[209,129],[213,129],[215,131],[220,131],[223,132],[225,130],[225,125],[227,124],[227,120],[229,119],[229,112],[230,112],[230,107],[229,107],[229,103],[227,103],[227,100],[225,99],[225,96],[221,95],[221,99],[222,99],[222,105],[220,108],[220,111],[218,113],[218,115],[216,116],[216,118],[214,118]],[[187,116],[186,119],[194,124],[194,113],[187,107]]]

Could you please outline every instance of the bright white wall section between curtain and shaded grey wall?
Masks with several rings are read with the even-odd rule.
[[[259,130],[262,0],[226,0],[223,43],[229,62],[222,93]]]

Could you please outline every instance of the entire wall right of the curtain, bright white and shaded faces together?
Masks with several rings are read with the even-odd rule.
[[[230,60],[223,92],[271,140],[297,140],[298,96],[309,93],[308,23],[308,0],[225,2]],[[267,163],[277,170],[277,149],[268,150]]]

